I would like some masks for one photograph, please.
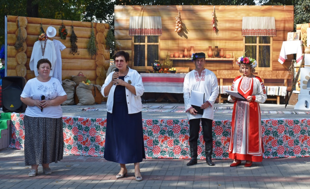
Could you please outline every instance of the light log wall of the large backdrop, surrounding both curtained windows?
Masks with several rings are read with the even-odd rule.
[[[245,16],[272,16],[275,17],[277,36],[272,37],[271,68],[267,71],[279,71],[284,78],[276,78],[276,73],[268,75],[280,79],[284,85],[286,75],[289,75],[289,67],[293,55],[282,65],[278,62],[282,42],[286,41],[287,32],[294,29],[293,6],[215,6],[215,16],[218,33],[213,32],[211,25],[214,6],[115,6],[115,37],[122,45],[122,50],[131,54],[129,65],[132,67],[132,38],[129,36],[130,16],[161,16],[162,36],[160,36],[159,55],[160,62],[166,59],[167,53],[179,52],[183,54],[187,48],[188,57],[190,47],[194,46],[195,52],[207,54],[208,46],[224,48],[224,54],[234,54],[234,60],[207,60],[206,68],[217,74],[217,70],[238,70],[235,61],[244,54],[244,37],[241,35],[242,17]],[[175,16],[180,15],[183,23],[181,33],[175,32]],[[175,67],[195,68],[191,60],[173,60]],[[234,65],[234,66],[233,66]],[[139,69],[145,72],[151,67]],[[258,76],[265,68],[257,68]],[[283,74],[282,74],[283,73]],[[265,75],[262,75],[265,77]],[[290,82],[289,82],[290,83]],[[271,83],[272,84],[272,83]],[[278,85],[278,83],[275,83]]]

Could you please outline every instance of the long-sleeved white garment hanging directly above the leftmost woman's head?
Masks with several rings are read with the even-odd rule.
[[[34,75],[37,77],[39,75],[37,69],[38,61],[40,59],[46,58],[52,64],[50,76],[53,77],[54,68],[56,64],[56,51],[54,43],[51,40],[47,39],[44,56],[42,55],[41,45],[44,48],[44,41],[36,41],[33,45],[32,54],[29,62],[30,70],[34,71]]]

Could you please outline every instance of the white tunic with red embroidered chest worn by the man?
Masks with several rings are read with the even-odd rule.
[[[201,72],[200,77],[196,70],[192,70],[188,74],[186,74],[183,86],[185,110],[191,107],[190,104],[191,90],[205,93],[204,102],[208,101],[211,104],[211,106],[203,110],[203,115],[201,114],[192,115],[189,112],[187,112],[188,119],[191,120],[197,118],[207,118],[213,120],[213,105],[215,103],[217,96],[219,95],[219,86],[215,74],[208,69],[204,69]]]

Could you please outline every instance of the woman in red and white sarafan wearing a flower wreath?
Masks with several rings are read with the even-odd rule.
[[[246,100],[228,96],[228,101],[234,103],[228,153],[229,158],[234,160],[231,167],[240,165],[241,160],[246,160],[245,167],[250,167],[253,161],[263,160],[259,103],[264,103],[267,95],[262,79],[253,75],[256,60],[241,56],[237,64],[243,75],[234,79],[231,90],[239,92]]]

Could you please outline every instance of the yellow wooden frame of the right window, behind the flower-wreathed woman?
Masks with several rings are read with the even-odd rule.
[[[246,46],[256,46],[256,57],[251,57],[251,58],[255,58],[255,60],[257,62],[259,62],[259,46],[270,46],[270,67],[259,67],[259,65],[257,64],[257,67],[255,68],[255,71],[272,71],[272,36],[267,36],[270,37],[270,43],[266,44],[266,43],[259,43],[259,37],[260,36],[255,36],[256,37],[256,43],[246,43],[246,36],[243,36],[243,52],[246,51]]]

